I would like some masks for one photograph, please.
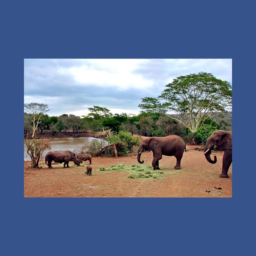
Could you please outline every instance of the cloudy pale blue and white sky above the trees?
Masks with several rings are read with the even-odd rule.
[[[49,116],[87,115],[94,105],[137,115],[141,98],[198,72],[232,84],[232,59],[24,59],[24,103],[48,104]]]

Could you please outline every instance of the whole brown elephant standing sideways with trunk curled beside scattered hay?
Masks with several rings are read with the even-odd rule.
[[[154,170],[160,170],[159,160],[162,159],[162,155],[175,156],[177,163],[174,169],[181,169],[180,161],[184,150],[186,152],[186,144],[184,140],[178,135],[169,135],[166,137],[149,137],[142,139],[137,154],[137,160],[139,163],[144,163],[143,160],[141,161],[141,152],[143,152],[143,150],[153,152],[152,166],[154,167]]]

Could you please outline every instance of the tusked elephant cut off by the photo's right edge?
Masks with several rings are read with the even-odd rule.
[[[210,158],[210,153],[214,145],[216,145],[219,150],[225,150],[222,159],[222,171],[219,177],[228,178],[228,168],[232,163],[232,131],[214,131],[206,141],[204,156],[206,160],[212,164],[217,162],[216,156],[214,156],[214,160]]]

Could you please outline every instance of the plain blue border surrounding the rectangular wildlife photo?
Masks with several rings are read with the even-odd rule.
[[[247,92],[254,81],[252,76],[248,79],[254,72],[244,59],[252,43],[243,40],[250,38],[247,32],[254,14],[245,2],[244,6],[231,1],[161,0],[1,4],[2,24],[8,24],[2,37],[2,111],[7,114],[2,132],[7,134],[3,145],[8,154],[2,161],[1,250],[7,255],[249,254],[253,243],[247,231],[249,224],[255,226],[255,210],[248,194],[254,195],[255,174],[239,161],[252,153],[240,150],[244,140],[238,132],[251,109]],[[234,21],[241,11],[244,22]],[[232,59],[233,197],[23,198],[20,126],[25,58]],[[17,126],[9,127],[13,122]],[[10,159],[13,172],[7,173]]]

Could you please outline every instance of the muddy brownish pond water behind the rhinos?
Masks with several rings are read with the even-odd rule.
[[[79,138],[54,138],[51,141],[51,149],[45,150],[43,152],[44,156],[49,151],[59,151],[59,150],[71,150],[74,151],[76,148],[81,148],[85,144],[91,143],[91,141],[100,141],[100,139],[93,137],[79,137]],[[30,156],[27,154],[26,145],[24,145],[24,161],[31,161]]]

